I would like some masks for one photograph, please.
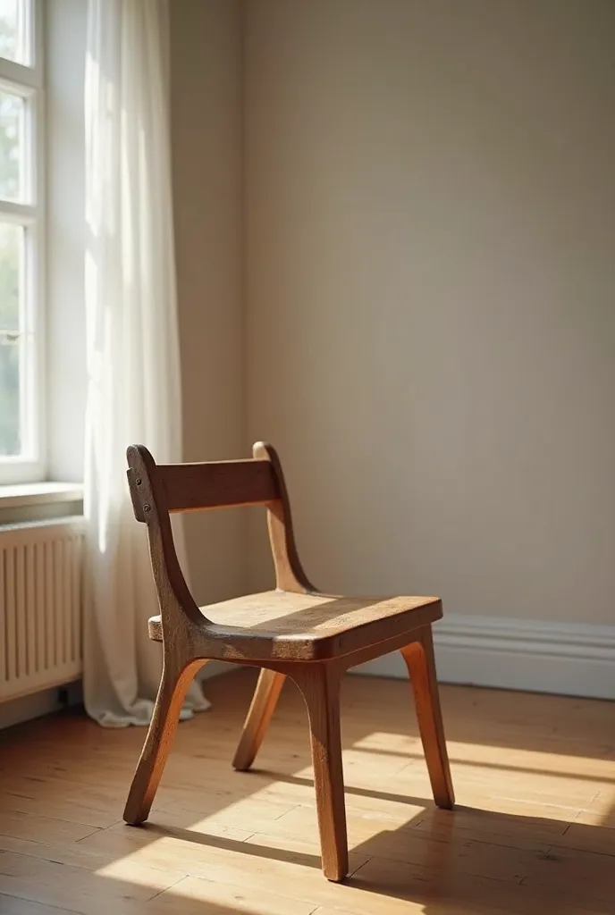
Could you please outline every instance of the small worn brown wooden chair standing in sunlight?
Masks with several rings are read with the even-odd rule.
[[[297,555],[290,506],[275,449],[254,446],[250,460],[156,465],[147,449],[128,448],[128,479],[137,521],[146,522],[160,604],[149,636],[163,643],[163,671],[152,722],[124,820],[147,819],[194,674],[210,660],[262,668],[232,765],[254,762],[286,676],[308,706],[322,869],[348,873],[340,746],[340,678],[355,664],[400,649],[414,688],[427,769],[438,807],[453,787],[437,691],[431,623],[437,597],[332,597],[310,585]],[[169,512],[264,505],[276,589],[199,608],[181,574]]]

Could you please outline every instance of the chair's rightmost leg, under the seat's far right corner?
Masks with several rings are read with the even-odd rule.
[[[418,729],[423,741],[434,801],[438,807],[450,810],[455,803],[455,793],[448,765],[431,626],[419,630],[415,641],[406,645],[402,654],[415,694]]]

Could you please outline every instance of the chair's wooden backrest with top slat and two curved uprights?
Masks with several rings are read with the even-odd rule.
[[[299,562],[284,474],[275,448],[258,442],[253,454],[245,460],[156,464],[143,445],[131,445],[126,452],[135,518],[148,526],[155,576],[161,574],[162,564],[171,582],[182,578],[181,602],[187,598],[187,589],[179,572],[169,513],[240,505],[264,505],[268,510],[276,586],[286,591],[316,590]],[[159,554],[156,562],[155,553]],[[167,574],[163,577],[166,579]]]

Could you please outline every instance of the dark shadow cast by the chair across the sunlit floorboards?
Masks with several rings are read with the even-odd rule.
[[[266,771],[255,771],[254,780],[261,784],[269,780],[310,783]],[[574,838],[566,838],[566,823],[559,820],[463,805],[452,812],[440,811],[428,798],[402,798],[352,787],[346,791],[348,798],[357,793],[413,806],[424,804],[425,814],[363,842],[351,841],[355,865],[344,881],[346,887],[420,904],[425,915],[512,910],[523,915],[534,911],[541,915],[573,911],[612,915],[615,831],[610,828],[579,823],[574,825]],[[322,878],[318,854],[157,825],[156,812],[152,822],[141,828],[144,842],[174,836],[196,845],[313,868],[314,879]],[[589,848],[595,852],[590,853]],[[340,907],[344,908],[342,902]]]

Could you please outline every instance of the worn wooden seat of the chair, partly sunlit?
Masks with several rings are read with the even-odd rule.
[[[437,597],[335,597],[265,591],[200,608],[211,658],[319,661],[412,632],[442,616]],[[162,640],[159,616],[150,639]]]

